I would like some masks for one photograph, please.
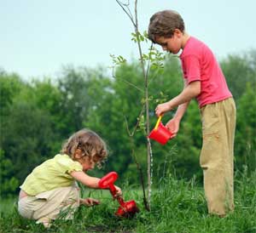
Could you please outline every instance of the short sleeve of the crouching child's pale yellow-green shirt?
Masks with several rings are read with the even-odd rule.
[[[56,156],[56,163],[58,168],[61,170],[61,173],[71,173],[73,171],[83,171],[83,167],[79,162],[73,161],[67,155]]]

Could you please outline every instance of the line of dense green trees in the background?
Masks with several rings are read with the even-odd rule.
[[[236,170],[256,169],[256,50],[231,54],[220,61],[236,100]],[[132,85],[131,85],[132,83]],[[0,186],[1,196],[13,195],[32,169],[55,156],[65,139],[80,128],[90,128],[108,144],[109,157],[101,176],[116,171],[122,180],[137,184],[137,163],[146,176],[147,135],[140,127],[132,137],[143,106],[143,74],[136,61],[120,65],[115,78],[102,67],[67,65],[55,79],[24,81],[19,74],[0,70]],[[134,88],[136,87],[136,88]],[[183,88],[179,60],[169,57],[164,68],[149,75],[150,125],[155,105],[171,99]],[[165,123],[173,112],[165,115]],[[201,179],[201,120],[193,100],[176,139],[162,146],[152,141],[153,182],[168,171],[177,178]]]

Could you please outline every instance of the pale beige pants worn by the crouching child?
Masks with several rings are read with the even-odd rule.
[[[25,196],[18,202],[18,211],[26,219],[37,223],[50,222],[51,219],[73,219],[79,207],[79,189],[76,185],[45,191],[37,196]]]

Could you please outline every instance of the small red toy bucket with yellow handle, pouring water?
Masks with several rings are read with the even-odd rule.
[[[154,129],[148,135],[149,139],[154,139],[161,145],[165,145],[171,138],[172,132],[170,132],[161,122],[162,116],[158,117]]]

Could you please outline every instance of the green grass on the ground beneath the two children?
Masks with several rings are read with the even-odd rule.
[[[99,198],[101,205],[80,207],[73,221],[57,219],[49,230],[22,219],[14,200],[2,200],[0,232],[256,232],[256,173],[236,173],[235,187],[236,210],[225,218],[207,214],[203,190],[195,179],[185,182],[169,175],[154,184],[151,212],[144,210],[141,191],[123,187],[125,201],[134,199],[140,208],[133,219],[115,217],[118,202],[108,192],[96,190],[90,196]]]

